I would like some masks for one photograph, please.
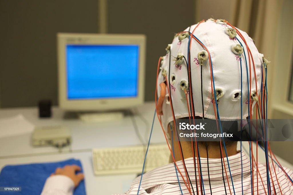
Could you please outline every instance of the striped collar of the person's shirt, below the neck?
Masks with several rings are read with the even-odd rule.
[[[196,178],[197,178],[197,181],[199,181],[200,176],[198,174],[199,170],[197,165],[197,158],[195,158],[195,166],[194,166],[193,157],[186,158],[184,159],[184,161],[185,161],[185,166],[188,171],[188,175],[191,182],[195,183]],[[237,176],[241,177],[241,169],[242,169],[243,175],[246,173],[250,173],[251,163],[243,151],[241,153],[237,153],[235,155],[229,156],[228,161],[229,161],[229,166],[228,166],[226,157],[224,158],[224,160],[221,160],[221,158],[209,158],[209,159],[199,158],[198,163],[200,163],[200,166],[201,166],[202,179],[204,183],[205,181],[208,182],[209,180],[210,182],[216,182],[216,183],[219,183],[219,181],[223,182],[223,173],[224,173],[224,179],[226,180],[227,177],[229,179],[230,178],[229,167],[230,167],[232,177],[237,177]],[[222,162],[223,162],[223,166],[222,166]],[[177,161],[176,164],[181,174],[183,175],[185,182],[187,182],[187,177],[186,177],[182,160]],[[225,167],[226,167],[226,171],[225,171]],[[195,170],[196,170],[196,176],[195,176]],[[179,172],[178,172],[178,178],[180,183],[184,183],[184,180],[182,179]],[[134,179],[132,185],[136,185],[136,184],[138,185],[139,181],[140,181],[140,176]],[[144,189],[148,189],[150,187],[153,187],[159,184],[166,184],[166,183],[178,183],[174,163],[163,165],[147,173],[144,173],[141,187],[143,187]]]

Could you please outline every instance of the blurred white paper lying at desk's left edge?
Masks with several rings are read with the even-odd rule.
[[[0,119],[0,138],[32,133],[34,125],[22,114]]]

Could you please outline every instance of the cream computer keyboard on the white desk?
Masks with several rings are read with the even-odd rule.
[[[141,173],[147,146],[117,148],[94,148],[93,170],[95,175]],[[149,146],[144,171],[169,163],[170,150],[167,144]]]

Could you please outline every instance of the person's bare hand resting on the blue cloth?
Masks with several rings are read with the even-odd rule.
[[[79,182],[84,179],[83,173],[75,174],[76,171],[80,171],[81,168],[78,165],[65,165],[63,168],[57,167],[54,173],[52,175],[65,175],[72,179],[74,182],[74,187],[77,187]]]

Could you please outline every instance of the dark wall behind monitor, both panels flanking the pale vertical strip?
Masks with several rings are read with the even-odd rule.
[[[194,0],[108,0],[108,33],[147,35],[145,100],[174,33],[195,23]],[[56,33],[98,33],[98,0],[0,1],[0,105],[57,105]]]

